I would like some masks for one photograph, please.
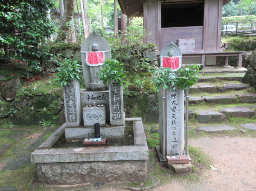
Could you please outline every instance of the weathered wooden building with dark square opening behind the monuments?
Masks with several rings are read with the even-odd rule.
[[[220,37],[222,7],[229,1],[118,0],[127,18],[143,16],[144,29],[152,34],[145,43],[152,42],[161,51],[173,41],[180,48],[183,46],[183,63],[209,65],[216,63],[216,56],[227,55],[221,53]],[[234,55],[242,59],[242,53]],[[226,64],[227,59],[226,56]]]

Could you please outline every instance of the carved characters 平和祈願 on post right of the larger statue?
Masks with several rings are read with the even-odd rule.
[[[111,110],[113,120],[122,119],[122,110],[121,110],[121,99],[120,99],[120,86],[118,83],[110,84],[111,89]]]

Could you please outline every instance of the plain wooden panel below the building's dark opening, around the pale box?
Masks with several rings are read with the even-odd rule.
[[[178,39],[195,39],[195,49],[202,50],[203,26],[161,28],[161,49],[170,41],[176,43]]]

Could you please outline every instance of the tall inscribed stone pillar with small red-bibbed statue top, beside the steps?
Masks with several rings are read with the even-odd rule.
[[[169,67],[173,71],[177,71],[181,67],[182,56],[179,47],[173,42],[170,42],[163,48],[160,53],[160,67]],[[165,150],[165,156],[182,155],[184,151],[184,91],[173,87],[169,87],[166,91],[166,105],[163,111],[161,102],[161,88],[159,89],[159,136],[160,136],[160,155]],[[165,119],[165,126],[163,127],[162,119]],[[163,133],[163,129],[165,133]],[[165,143],[163,143],[163,134],[165,135]],[[165,147],[165,148],[163,148]],[[165,156],[163,158],[165,158]]]

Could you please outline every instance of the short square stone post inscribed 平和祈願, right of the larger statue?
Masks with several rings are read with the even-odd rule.
[[[124,125],[123,86],[118,83],[109,84],[110,124],[112,126]]]

